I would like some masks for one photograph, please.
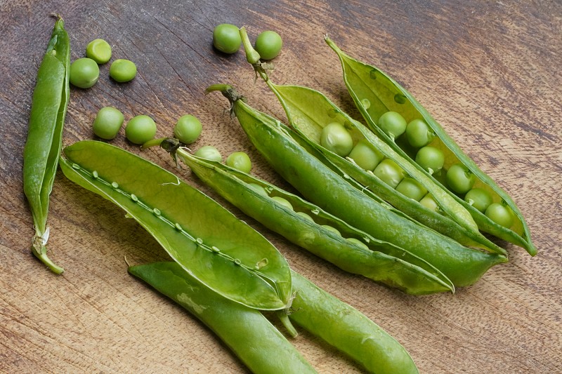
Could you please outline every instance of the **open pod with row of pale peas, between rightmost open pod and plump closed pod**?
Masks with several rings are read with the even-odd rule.
[[[463,211],[466,215],[469,213],[443,192],[439,185],[417,171],[407,159],[404,159],[391,147],[374,137],[368,128],[336,107],[325,95],[311,88],[276,85],[270,79],[266,83],[280,100],[292,127],[311,146],[325,154],[327,161],[359,182],[362,188],[369,188],[374,194],[388,201],[422,225],[449,236],[464,246],[506,254],[503,248],[492,243],[478,232],[477,227],[462,225],[458,220],[454,220],[450,215],[452,211]],[[341,127],[339,131],[344,136],[349,136],[351,140],[351,146],[348,147],[349,151],[345,155],[337,154],[334,149],[328,149],[330,145],[326,144],[326,141],[322,138],[333,135],[333,133],[330,133],[331,130],[328,126],[334,124],[341,124],[341,126],[338,125]],[[360,149],[360,147],[364,148],[360,152],[370,152],[371,154],[367,156],[356,155],[355,150]],[[360,161],[370,163],[370,165],[362,166],[361,164],[360,166]],[[386,164],[393,165],[398,170],[398,177],[391,175],[392,178],[398,178],[394,184],[387,180],[388,175],[385,175],[384,169]],[[410,166],[410,168],[404,166]],[[404,172],[400,170],[402,168]],[[422,191],[419,196],[408,196],[408,190],[401,189],[408,180]],[[419,203],[426,194],[435,199],[439,207],[438,210],[431,210]],[[468,217],[470,218],[470,215]]]

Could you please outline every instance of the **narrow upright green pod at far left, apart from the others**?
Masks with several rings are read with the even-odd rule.
[[[65,22],[58,18],[37,72],[30,126],[23,150],[23,191],[30,203],[35,236],[32,252],[56,274],[64,272],[48,258],[46,243],[49,195],[53,189],[62,147],[70,85],[70,41]]]

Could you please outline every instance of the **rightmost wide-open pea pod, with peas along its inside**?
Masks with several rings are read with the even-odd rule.
[[[513,199],[478,168],[431,114],[405,88],[380,69],[346,55],[328,37],[325,41],[338,55],[348,91],[372,131],[396,152],[409,159],[419,171],[439,182],[443,190],[471,213],[479,229],[521,246],[530,255],[535,255],[537,249],[531,241],[528,225]],[[388,112],[400,114],[408,123],[405,133],[396,140],[385,131],[385,126],[381,126],[381,117]],[[423,163],[420,164],[417,156],[424,147],[438,149],[443,154],[443,166],[438,173],[433,173]],[[452,168],[460,171],[459,175],[448,175]],[[459,177],[466,180],[466,188],[458,188],[454,180],[453,183],[447,182],[447,179]],[[478,192],[487,195],[485,197],[490,201],[484,208],[478,206],[478,201],[467,197],[467,192],[471,189],[478,189]],[[504,211],[502,216],[507,215],[509,219],[497,220],[494,215],[487,213],[485,208],[492,203],[499,204]]]

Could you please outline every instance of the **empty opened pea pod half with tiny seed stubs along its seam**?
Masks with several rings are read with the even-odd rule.
[[[290,306],[285,258],[261,234],[176,175],[124,149],[82,141],[65,150],[63,173],[139,222],[186,272],[242,305]]]

